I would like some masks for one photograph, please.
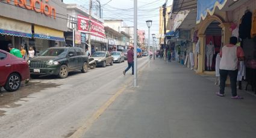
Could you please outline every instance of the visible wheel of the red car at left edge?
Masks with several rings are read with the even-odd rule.
[[[5,83],[4,89],[8,92],[13,92],[20,87],[20,76],[17,73],[11,73]]]

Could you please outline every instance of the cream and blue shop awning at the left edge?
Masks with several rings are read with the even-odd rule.
[[[32,38],[31,24],[0,17],[0,34]]]

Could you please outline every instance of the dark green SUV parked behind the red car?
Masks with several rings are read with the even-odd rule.
[[[69,71],[87,72],[88,56],[80,47],[52,47],[28,61],[31,77],[57,75],[65,78]]]

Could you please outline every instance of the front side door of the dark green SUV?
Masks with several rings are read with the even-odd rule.
[[[69,51],[67,53],[67,60],[67,66],[69,67],[69,70],[75,70],[78,64],[78,59],[74,47],[69,48]]]

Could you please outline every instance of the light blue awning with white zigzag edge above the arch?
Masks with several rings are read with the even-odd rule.
[[[207,13],[212,16],[216,7],[221,10],[226,4],[226,1],[228,0],[198,0],[196,23],[200,23],[201,19],[204,20],[207,17]]]

